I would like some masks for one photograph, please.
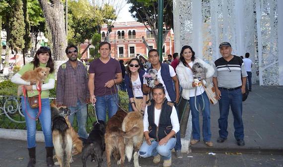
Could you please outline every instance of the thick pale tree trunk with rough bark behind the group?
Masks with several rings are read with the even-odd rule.
[[[52,54],[55,60],[56,69],[66,61],[65,49],[67,37],[65,32],[64,4],[61,0],[38,0],[46,19],[48,31],[52,36]],[[57,71],[57,70],[56,70]]]

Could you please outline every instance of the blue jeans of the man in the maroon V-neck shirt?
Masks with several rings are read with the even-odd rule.
[[[106,122],[106,109],[108,111],[108,119],[110,119],[118,111],[118,94],[96,96],[95,110],[98,120]]]

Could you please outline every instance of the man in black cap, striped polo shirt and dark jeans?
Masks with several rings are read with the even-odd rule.
[[[242,94],[246,92],[247,72],[243,60],[231,55],[232,48],[228,42],[219,45],[221,58],[214,61],[213,85],[216,99],[219,100],[220,117],[219,137],[217,143],[223,143],[228,136],[227,124],[229,107],[234,116],[234,136],[239,146],[244,146],[244,125],[242,119]]]

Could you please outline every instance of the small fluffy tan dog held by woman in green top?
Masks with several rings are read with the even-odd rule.
[[[48,77],[49,72],[49,67],[37,67],[34,70],[26,71],[21,76],[21,79],[27,82],[36,83],[36,86],[38,86],[39,84],[42,84],[43,81]],[[18,86],[17,96],[22,94],[22,86],[23,85]]]

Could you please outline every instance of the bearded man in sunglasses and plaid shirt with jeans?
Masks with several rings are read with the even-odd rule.
[[[78,135],[87,139],[87,103],[89,91],[87,88],[87,71],[81,61],[77,60],[77,47],[69,45],[66,48],[69,60],[60,65],[57,73],[56,102],[58,107],[67,106],[73,114],[69,116],[71,125],[76,116]]]

